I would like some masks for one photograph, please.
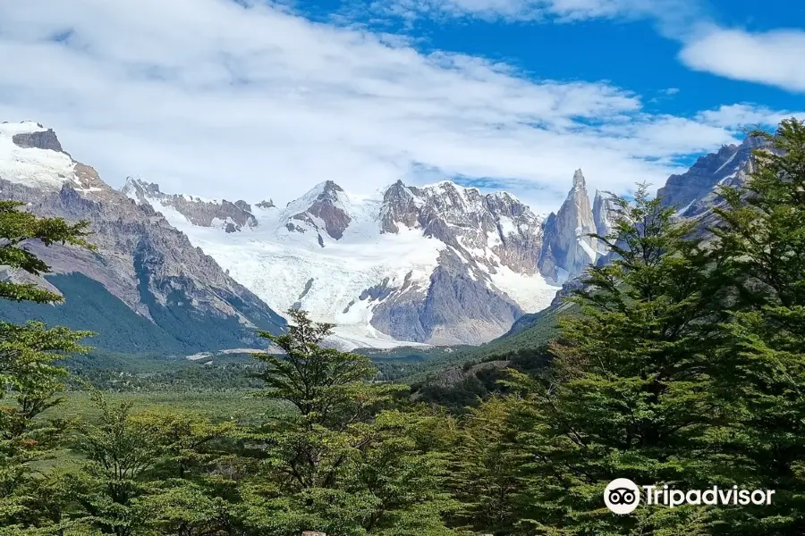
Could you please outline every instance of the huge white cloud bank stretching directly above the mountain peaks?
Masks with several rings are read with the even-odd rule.
[[[659,186],[677,156],[776,117],[651,115],[606,83],[529,80],[405,43],[227,0],[2,3],[0,121],[53,127],[113,185],[139,174],[284,202],[327,179],[374,190],[421,164],[510,184],[544,211],[578,167],[593,188]]]

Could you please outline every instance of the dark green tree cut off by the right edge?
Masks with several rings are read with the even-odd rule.
[[[734,512],[731,534],[805,532],[805,124],[755,132],[763,147],[741,187],[724,188],[716,248],[736,282],[721,393],[734,405],[728,453],[770,507]]]

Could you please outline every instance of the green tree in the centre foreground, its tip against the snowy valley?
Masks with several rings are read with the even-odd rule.
[[[282,353],[256,355],[267,364],[261,396],[286,411],[244,439],[246,454],[259,460],[242,486],[249,530],[445,533],[440,515],[449,501],[436,486],[444,462],[428,441],[411,437],[428,419],[388,411],[408,388],[375,381],[365,356],[323,348],[331,325],[288,314],[288,333],[262,333]]]

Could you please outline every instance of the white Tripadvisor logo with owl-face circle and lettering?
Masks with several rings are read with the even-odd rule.
[[[739,490],[738,486],[683,491],[667,485],[638,486],[627,478],[616,478],[604,490],[604,504],[615,514],[631,514],[640,505],[640,489],[647,505],[669,508],[682,505],[770,505],[775,494],[775,490]]]

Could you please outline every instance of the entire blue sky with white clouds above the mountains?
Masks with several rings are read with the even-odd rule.
[[[794,0],[7,2],[0,121],[53,127],[115,186],[453,177],[547,212],[576,168],[658,187],[801,115],[803,29]]]

